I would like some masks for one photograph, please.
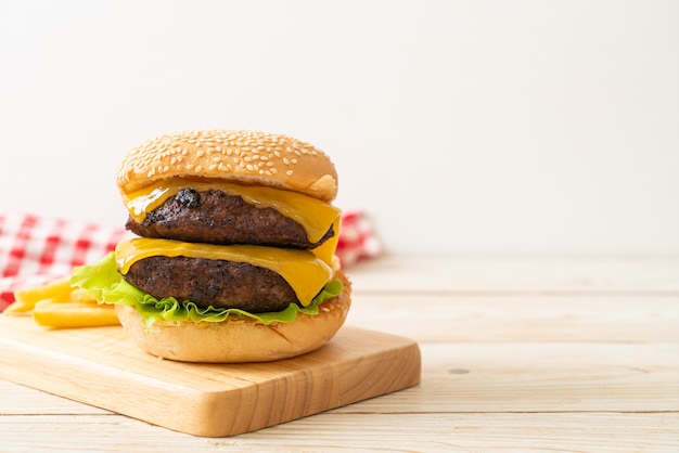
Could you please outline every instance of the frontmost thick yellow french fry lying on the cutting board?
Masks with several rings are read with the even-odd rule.
[[[39,301],[33,310],[33,319],[39,325],[54,328],[100,327],[119,325],[113,306],[97,301]]]

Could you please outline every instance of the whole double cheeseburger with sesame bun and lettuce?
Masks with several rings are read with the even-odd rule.
[[[115,303],[146,352],[272,361],[321,347],[344,323],[337,174],[309,143],[243,130],[161,135],[125,155],[116,183],[138,237],[77,268],[72,284]]]

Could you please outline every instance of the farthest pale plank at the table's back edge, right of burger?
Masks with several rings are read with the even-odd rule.
[[[384,256],[347,270],[354,290],[475,294],[679,294],[679,257]]]

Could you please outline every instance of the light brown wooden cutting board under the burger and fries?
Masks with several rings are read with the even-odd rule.
[[[247,364],[162,360],[121,327],[46,329],[0,314],[0,377],[195,436],[222,437],[317,414],[420,381],[411,339],[344,326],[321,349]]]

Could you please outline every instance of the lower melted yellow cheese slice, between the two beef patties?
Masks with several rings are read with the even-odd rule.
[[[123,274],[126,274],[134,262],[154,256],[238,261],[269,269],[285,279],[305,307],[311,303],[313,297],[333,275],[331,266],[305,250],[256,245],[184,243],[145,237],[123,241],[115,249],[118,270]]]

